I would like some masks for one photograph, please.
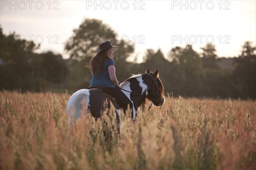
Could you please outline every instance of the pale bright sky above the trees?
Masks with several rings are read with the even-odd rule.
[[[256,0],[0,1],[5,35],[15,32],[17,39],[41,44],[37,52],[50,50],[63,58],[69,58],[64,43],[86,18],[102,20],[117,40],[130,40],[133,55],[140,57],[147,49],[161,49],[167,57],[175,46],[187,44],[201,53],[207,43],[216,46],[218,57],[234,57],[245,41],[256,43]]]

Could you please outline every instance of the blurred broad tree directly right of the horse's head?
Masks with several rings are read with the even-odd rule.
[[[201,58],[192,49],[192,45],[185,48],[176,46],[168,54],[171,61],[169,64],[169,85],[174,95],[200,96],[202,81],[198,74],[201,69]]]

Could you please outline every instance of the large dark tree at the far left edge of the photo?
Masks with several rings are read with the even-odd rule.
[[[39,90],[40,88],[36,86],[38,79],[32,79],[28,69],[33,70],[30,62],[35,49],[40,45],[21,39],[15,32],[4,35],[2,28],[0,28],[0,36],[0,89]]]

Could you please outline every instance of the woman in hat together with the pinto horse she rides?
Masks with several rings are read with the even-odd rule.
[[[96,120],[102,116],[102,112],[110,109],[107,94],[100,90],[102,87],[107,88],[119,103],[115,109],[118,124],[120,123],[119,107],[125,112],[129,104],[132,111],[131,118],[135,120],[136,111],[138,107],[144,106],[146,98],[152,101],[151,105],[163,105],[165,101],[164,87],[158,76],[158,69],[155,72],[150,72],[150,69],[147,69],[145,74],[133,75],[119,85],[115,74],[115,63],[111,58],[113,47],[115,46],[112,46],[110,41],[99,44],[97,54],[90,62],[90,68],[93,72],[90,88],[76,91],[67,102],[69,125],[72,126],[72,122],[80,118],[83,107],[85,107],[84,113],[87,114],[90,110]],[[95,86],[101,86],[101,88],[97,89]],[[85,101],[85,104],[82,101]]]

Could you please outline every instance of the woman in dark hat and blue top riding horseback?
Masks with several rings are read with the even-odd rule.
[[[111,96],[116,99],[120,107],[124,110],[133,110],[133,103],[121,91],[122,87],[116,79],[115,63],[111,56],[113,55],[113,47],[110,41],[104,41],[99,44],[96,55],[90,60],[90,69],[93,75],[90,86],[102,86],[111,92]],[[133,115],[133,112],[132,112]]]

